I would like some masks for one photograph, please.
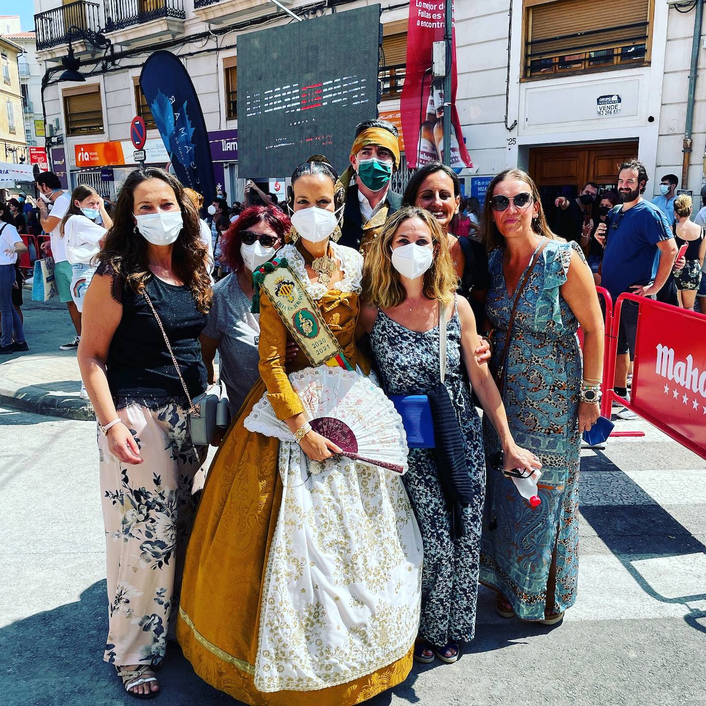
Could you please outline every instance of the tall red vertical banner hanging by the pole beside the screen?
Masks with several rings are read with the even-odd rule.
[[[453,0],[450,0],[453,1]],[[400,112],[405,136],[407,166],[423,167],[434,160],[443,161],[446,143],[450,143],[451,167],[472,167],[473,162],[463,143],[463,133],[456,111],[456,31],[451,47],[451,126],[450,140],[443,134],[443,78],[431,76],[433,42],[443,41],[444,3],[433,0],[410,0],[407,28],[407,68],[402,87]]]

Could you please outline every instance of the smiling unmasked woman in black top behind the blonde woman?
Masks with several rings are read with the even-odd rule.
[[[429,162],[417,169],[402,196],[403,206],[419,206],[430,211],[448,237],[451,259],[459,279],[458,293],[468,299],[478,331],[486,331],[485,301],[489,287],[488,256],[484,246],[465,236],[455,236],[461,182],[450,167]]]

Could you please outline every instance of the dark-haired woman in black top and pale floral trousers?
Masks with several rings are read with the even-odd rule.
[[[191,481],[205,455],[191,443],[187,410],[188,397],[206,387],[198,343],[212,297],[206,258],[198,213],[179,181],[162,169],[137,170],[121,189],[83,306],[78,362],[101,432],[104,659],[142,698],[159,690],[152,666],[176,618],[196,510]]]

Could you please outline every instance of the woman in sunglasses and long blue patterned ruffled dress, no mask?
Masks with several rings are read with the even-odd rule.
[[[491,181],[487,198],[492,364],[501,363],[507,339],[501,394],[515,440],[542,461],[542,504],[530,507],[511,479],[489,474],[480,578],[498,592],[501,616],[552,625],[576,599],[580,435],[599,416],[590,400],[602,376],[603,320],[590,268],[574,244],[549,230],[532,179],[508,169]],[[499,446],[489,424],[484,441],[490,458]]]

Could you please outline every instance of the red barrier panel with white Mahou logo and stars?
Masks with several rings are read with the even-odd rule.
[[[706,449],[706,316],[640,303],[632,406]]]

